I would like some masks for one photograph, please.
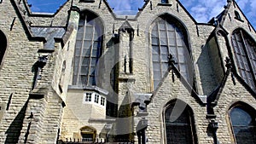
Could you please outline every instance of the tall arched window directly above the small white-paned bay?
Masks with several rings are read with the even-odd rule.
[[[81,14],[76,39],[73,85],[96,85],[96,63],[102,55],[102,21],[90,12]]]

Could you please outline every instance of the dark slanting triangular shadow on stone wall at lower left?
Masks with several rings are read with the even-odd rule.
[[[28,100],[26,101],[24,106],[21,108],[20,112],[15,117],[13,122],[9,125],[8,130],[5,132],[5,134],[7,135],[6,140],[4,142],[5,144],[18,143],[19,137],[20,137],[20,131],[22,130],[23,120],[25,118],[27,104],[28,104]]]

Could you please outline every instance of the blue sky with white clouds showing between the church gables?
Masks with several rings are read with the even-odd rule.
[[[54,13],[67,0],[27,0],[32,4],[32,12]],[[99,0],[96,0],[99,1]],[[227,0],[180,0],[183,6],[197,22],[207,22],[217,16],[223,9]],[[116,14],[136,14],[137,9],[143,6],[143,0],[108,0],[110,7]],[[256,0],[236,0],[256,29]]]

